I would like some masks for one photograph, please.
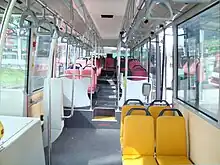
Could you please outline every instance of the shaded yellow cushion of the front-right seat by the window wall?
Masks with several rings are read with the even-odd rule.
[[[157,156],[159,165],[193,165],[185,156]]]

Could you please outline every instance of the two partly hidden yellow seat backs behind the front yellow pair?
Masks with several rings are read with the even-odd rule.
[[[132,104],[131,104],[132,103]],[[160,105],[157,105],[157,103],[160,103]],[[165,104],[161,104],[165,103]],[[121,128],[120,128],[120,141],[122,144],[123,141],[123,125],[124,125],[124,118],[127,114],[127,112],[132,108],[145,108],[144,103],[139,99],[128,99],[125,101],[124,105],[122,106],[121,110]],[[169,103],[166,100],[154,100],[150,103],[148,107],[148,111],[151,113],[154,122],[156,123],[156,119],[159,115],[159,113],[166,108],[171,108]],[[133,115],[144,115],[144,111],[134,111]],[[166,112],[165,115],[172,116],[172,112]]]

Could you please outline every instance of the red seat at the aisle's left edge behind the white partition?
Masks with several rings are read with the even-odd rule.
[[[95,93],[96,91],[96,86],[97,86],[97,75],[96,75],[96,71],[94,68],[92,68],[91,66],[87,66],[85,69],[82,70],[82,78],[84,76],[88,76],[91,77],[92,75],[92,85],[90,84],[88,87],[88,93]]]

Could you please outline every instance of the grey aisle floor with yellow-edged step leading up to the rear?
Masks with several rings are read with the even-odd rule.
[[[82,64],[82,61],[78,59],[77,64]],[[97,72],[98,69],[97,66]],[[122,164],[120,124],[116,119],[116,66],[109,70],[108,65],[105,64],[101,73],[93,76],[93,79],[97,79],[97,83],[95,83],[96,90],[92,94],[92,109],[79,108],[74,111],[72,118],[66,120],[61,136],[53,144],[53,165]],[[88,93],[88,97],[91,99],[91,93]]]

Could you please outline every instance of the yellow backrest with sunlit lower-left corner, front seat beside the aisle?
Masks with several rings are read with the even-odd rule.
[[[154,119],[152,116],[126,116],[124,119],[123,135],[123,156],[132,155],[139,157],[154,155]]]

